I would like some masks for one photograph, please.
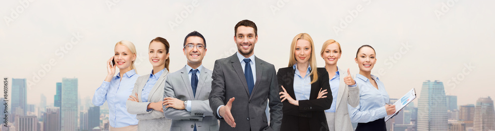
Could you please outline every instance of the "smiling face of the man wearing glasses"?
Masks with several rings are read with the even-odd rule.
[[[193,48],[188,48],[188,45],[194,45]],[[197,45],[203,45],[203,48],[198,48]],[[201,64],[203,57],[206,55],[206,48],[204,48],[203,39],[197,36],[188,37],[186,40],[186,47],[182,49],[184,55],[186,55],[188,64]]]

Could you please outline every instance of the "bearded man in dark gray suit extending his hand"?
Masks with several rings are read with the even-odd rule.
[[[238,52],[215,61],[208,97],[211,110],[220,119],[220,131],[279,131],[282,102],[275,66],[254,56],[258,41],[254,22],[242,20],[234,30]]]

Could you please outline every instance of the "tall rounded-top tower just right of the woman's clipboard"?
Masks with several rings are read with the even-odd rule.
[[[443,82],[423,82],[417,123],[418,131],[447,131],[447,102]]]

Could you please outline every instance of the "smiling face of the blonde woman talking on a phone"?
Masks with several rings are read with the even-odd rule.
[[[119,69],[131,70],[132,61],[136,60],[136,54],[122,44],[115,45],[115,55],[113,56],[115,65]]]

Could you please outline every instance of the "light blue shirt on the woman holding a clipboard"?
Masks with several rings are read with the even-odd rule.
[[[353,123],[368,123],[387,116],[385,103],[390,97],[385,86],[378,77],[371,75],[378,85],[376,89],[370,80],[361,74],[356,75],[356,83],[359,85],[359,104],[356,108],[347,105],[350,121]]]

